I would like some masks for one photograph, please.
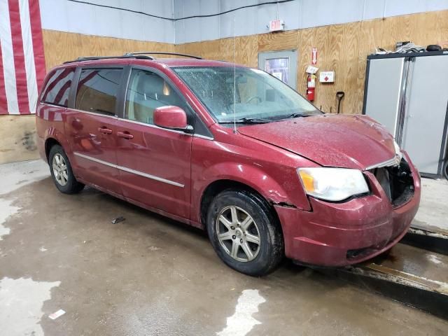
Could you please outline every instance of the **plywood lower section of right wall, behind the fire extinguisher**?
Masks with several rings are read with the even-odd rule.
[[[448,10],[241,36],[235,42],[233,38],[223,38],[184,43],[176,45],[176,51],[233,62],[235,43],[236,62],[258,66],[258,52],[295,49],[298,52],[297,89],[304,94],[304,71],[311,62],[311,49],[316,47],[318,68],[335,71],[335,83],[318,83],[314,104],[322,106],[325,112],[330,112],[330,109],[335,112],[336,92],[344,91],[342,113],[360,113],[363,109],[366,57],[377,46],[393,49],[396,41],[414,41],[417,45],[448,41]]]

